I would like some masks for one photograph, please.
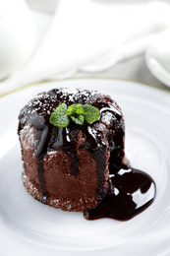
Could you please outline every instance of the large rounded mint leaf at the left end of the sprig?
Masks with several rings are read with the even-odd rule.
[[[49,121],[54,126],[66,127],[70,123],[70,117],[67,115],[67,104],[62,103],[57,106],[54,112],[50,115]]]

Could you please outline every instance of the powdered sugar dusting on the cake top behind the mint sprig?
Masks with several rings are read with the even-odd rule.
[[[36,116],[42,116],[45,124],[48,124],[52,112],[63,102],[67,103],[67,105],[73,103],[92,104],[95,98],[99,98],[100,96],[100,92],[98,91],[74,88],[54,89],[47,93],[43,92],[29,100],[21,110],[19,116],[20,128],[24,128],[28,122],[31,123],[31,120],[36,118]]]

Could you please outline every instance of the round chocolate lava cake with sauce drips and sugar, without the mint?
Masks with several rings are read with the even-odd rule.
[[[100,117],[79,125],[49,122],[57,106],[89,104]],[[64,211],[95,208],[110,189],[109,164],[126,164],[124,117],[110,97],[97,91],[54,89],[31,99],[19,115],[23,182],[38,201]]]

